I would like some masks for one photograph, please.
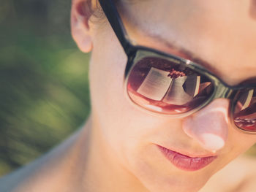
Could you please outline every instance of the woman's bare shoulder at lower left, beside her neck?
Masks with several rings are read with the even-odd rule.
[[[78,136],[79,130],[37,160],[0,178],[0,192],[67,191],[69,173],[77,168]]]

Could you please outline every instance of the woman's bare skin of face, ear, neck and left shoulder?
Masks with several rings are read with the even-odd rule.
[[[256,77],[252,2],[148,0],[124,3],[120,9],[138,45],[180,56],[174,47],[182,47],[206,61],[227,84],[237,85]],[[89,2],[72,1],[72,36],[80,50],[91,51],[91,116],[59,147],[0,180],[7,191],[199,191],[255,144],[256,135],[231,125],[227,99],[216,99],[186,118],[161,117],[134,107],[123,88],[127,56],[109,23],[99,21],[83,4]],[[156,144],[218,158],[187,172],[170,164]]]

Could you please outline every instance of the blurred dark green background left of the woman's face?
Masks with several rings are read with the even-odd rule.
[[[72,41],[70,4],[0,0],[0,176],[57,145],[89,115],[89,55]]]

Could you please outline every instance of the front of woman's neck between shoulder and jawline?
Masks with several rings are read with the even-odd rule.
[[[89,121],[90,146],[83,174],[84,191],[147,191],[137,177],[116,161],[116,155],[102,137],[97,120]],[[83,148],[81,150],[83,153]]]

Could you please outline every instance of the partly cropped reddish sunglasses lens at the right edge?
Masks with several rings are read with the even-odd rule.
[[[233,118],[238,128],[256,132],[256,88],[238,93]]]

